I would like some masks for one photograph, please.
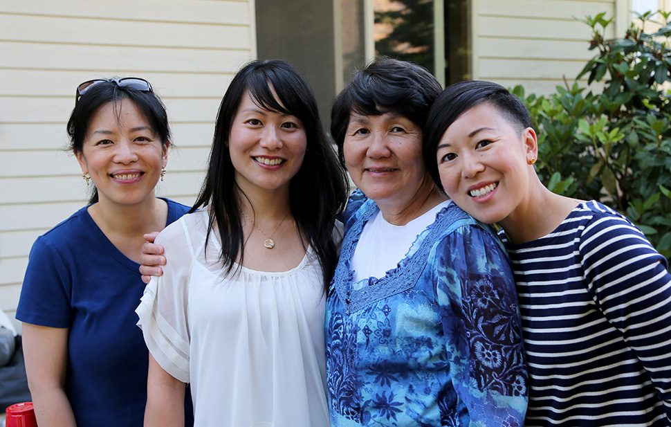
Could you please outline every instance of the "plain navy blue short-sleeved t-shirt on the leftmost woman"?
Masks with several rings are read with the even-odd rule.
[[[166,201],[167,224],[189,210]],[[77,426],[140,427],[149,356],[135,309],[145,285],[140,265],[107,239],[87,208],[33,244],[16,317],[70,329],[66,394]]]

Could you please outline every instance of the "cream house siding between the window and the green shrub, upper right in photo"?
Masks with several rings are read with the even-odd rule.
[[[623,0],[473,0],[474,78],[528,93],[550,93],[572,81],[594,52],[590,28],[578,21],[606,12],[616,22],[606,37],[623,35],[629,22]],[[586,81],[584,82],[587,83]]]

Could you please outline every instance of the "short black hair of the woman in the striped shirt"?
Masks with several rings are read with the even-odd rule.
[[[436,98],[426,119],[423,136],[424,165],[430,172],[438,188],[443,190],[438,173],[436,150],[443,134],[452,123],[466,111],[480,104],[488,103],[520,131],[531,127],[528,109],[519,98],[508,89],[494,82],[469,80],[450,85]]]

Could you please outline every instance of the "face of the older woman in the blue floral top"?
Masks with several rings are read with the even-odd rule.
[[[352,181],[378,205],[404,208],[426,179],[421,129],[398,113],[351,113],[342,149]]]

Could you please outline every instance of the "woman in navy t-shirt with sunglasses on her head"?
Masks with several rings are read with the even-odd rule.
[[[143,233],[188,210],[154,192],[167,164],[167,113],[143,79],[91,80],[77,87],[67,129],[93,194],[30,251],[17,319],[37,421],[142,426],[148,357],[134,313],[143,293],[140,246]]]

